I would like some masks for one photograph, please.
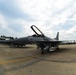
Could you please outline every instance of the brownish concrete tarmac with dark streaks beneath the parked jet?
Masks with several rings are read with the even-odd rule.
[[[76,75],[76,44],[59,48],[42,55],[35,45],[0,45],[0,75]]]

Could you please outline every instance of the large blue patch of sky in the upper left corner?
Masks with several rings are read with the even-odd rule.
[[[0,13],[2,13],[7,18],[24,18],[27,21],[31,21],[32,18],[28,15],[28,13],[22,13],[18,8],[15,0],[4,0],[0,2]]]

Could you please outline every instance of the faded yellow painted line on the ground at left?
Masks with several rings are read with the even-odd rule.
[[[20,59],[15,59],[15,60],[8,60],[8,61],[1,61],[0,65],[20,62],[20,61],[24,61],[24,60],[30,60],[31,58],[38,58],[38,57],[41,57],[41,56],[43,56],[43,55],[39,56],[39,54],[36,54],[34,56],[28,56],[28,57],[25,57],[25,58],[20,58]]]

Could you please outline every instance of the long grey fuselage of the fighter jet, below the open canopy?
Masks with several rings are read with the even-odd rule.
[[[40,41],[50,41],[50,40],[53,40],[53,39],[45,36],[27,36],[23,38],[14,39],[14,40],[7,40],[7,42],[12,44],[32,44],[32,43],[38,43]]]

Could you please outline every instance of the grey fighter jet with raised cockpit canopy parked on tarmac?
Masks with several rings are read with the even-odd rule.
[[[9,44],[10,47],[22,47],[26,44],[36,44],[37,47],[41,49],[42,54],[44,54],[46,50],[55,51],[59,49],[58,45],[62,42],[59,41],[59,32],[57,32],[56,37],[52,39],[45,36],[35,25],[32,25],[31,29],[34,31],[34,35],[11,40],[0,40],[0,43]]]

